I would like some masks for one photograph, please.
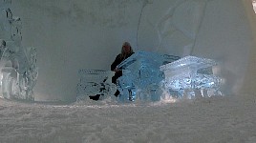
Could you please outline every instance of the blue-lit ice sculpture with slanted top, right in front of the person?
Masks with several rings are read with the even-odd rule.
[[[160,100],[159,83],[163,79],[160,66],[179,58],[174,55],[138,51],[121,62],[117,66],[123,72],[118,78],[118,101]]]

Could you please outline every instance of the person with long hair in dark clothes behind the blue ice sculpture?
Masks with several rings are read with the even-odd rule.
[[[119,65],[122,61],[127,59],[129,56],[131,56],[133,53],[133,48],[131,47],[131,44],[129,42],[124,42],[122,44],[121,52],[117,54],[117,57],[115,61],[111,64],[111,71],[115,72],[115,75],[112,77],[112,83],[117,85],[117,78],[122,75],[121,69],[117,69],[117,65]],[[119,91],[115,92],[114,95],[118,95]]]

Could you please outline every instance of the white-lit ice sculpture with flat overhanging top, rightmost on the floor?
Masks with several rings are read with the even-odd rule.
[[[185,56],[173,63],[162,65],[160,71],[165,75],[164,88],[178,98],[184,95],[193,98],[196,94],[222,94],[219,91],[221,78],[212,72],[212,67],[216,65],[212,59],[196,56]]]

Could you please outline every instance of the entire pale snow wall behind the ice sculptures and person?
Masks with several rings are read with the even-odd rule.
[[[255,15],[246,0],[12,0],[12,6],[23,19],[24,44],[38,49],[35,100],[75,100],[78,70],[109,70],[124,41],[136,51],[212,58],[226,93],[253,92]]]

